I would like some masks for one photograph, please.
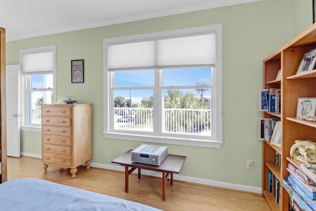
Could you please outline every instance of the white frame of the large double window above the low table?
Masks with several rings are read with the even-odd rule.
[[[215,31],[215,67],[213,68],[212,74],[212,85],[213,85],[213,95],[212,95],[212,127],[215,127],[214,134],[212,134],[212,139],[201,139],[201,138],[183,138],[183,137],[174,137],[174,136],[165,136],[159,134],[160,129],[154,128],[154,134],[146,134],[135,131],[114,131],[113,126],[113,96],[112,96],[112,85],[113,85],[113,72],[111,73],[108,70],[108,43],[113,42],[130,42],[136,40],[145,40],[152,38],[161,38],[167,36],[176,36],[189,33],[198,33],[198,32],[207,32]],[[104,103],[104,119],[103,119],[103,134],[106,138],[114,139],[123,139],[123,140],[133,140],[133,141],[142,141],[142,142],[154,142],[162,144],[176,144],[176,145],[188,145],[188,146],[199,146],[199,147],[211,147],[211,148],[220,148],[223,144],[222,142],[222,24],[208,25],[202,27],[194,27],[180,30],[172,30],[158,33],[150,34],[141,34],[134,36],[110,38],[103,40],[103,55],[104,55],[104,84],[103,84],[103,103]],[[189,68],[189,67],[188,67]],[[156,74],[157,73],[156,71]],[[159,89],[158,86],[154,87]],[[156,105],[156,108],[155,108]],[[160,109],[158,103],[154,104],[154,110]],[[156,112],[157,114],[157,112]],[[154,113],[155,115],[155,113]],[[160,122],[159,118],[159,122]],[[215,123],[215,124],[214,124]],[[159,124],[161,127],[161,124]]]

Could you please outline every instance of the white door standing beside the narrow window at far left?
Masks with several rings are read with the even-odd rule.
[[[6,66],[7,156],[20,157],[20,65]]]

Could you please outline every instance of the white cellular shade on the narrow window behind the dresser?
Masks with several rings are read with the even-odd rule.
[[[55,69],[55,46],[22,50],[21,67],[23,75],[53,73]]]

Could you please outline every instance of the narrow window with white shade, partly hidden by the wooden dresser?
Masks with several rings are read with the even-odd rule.
[[[41,104],[55,99],[56,46],[20,50],[23,74],[24,127],[40,127]]]

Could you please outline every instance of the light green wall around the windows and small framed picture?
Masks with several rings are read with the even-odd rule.
[[[224,144],[220,149],[167,146],[170,154],[187,156],[181,175],[261,187],[262,142],[257,140],[257,118],[262,114],[257,90],[262,87],[262,61],[312,24],[312,16],[305,12],[309,5],[296,4],[295,0],[261,0],[7,42],[6,59],[8,65],[19,64],[20,49],[57,45],[57,100],[73,96],[93,103],[92,162],[111,165],[119,154],[141,143],[106,139],[102,134],[103,39],[222,23]],[[293,11],[302,14],[294,17]],[[70,61],[74,59],[84,59],[83,84],[71,83]],[[21,151],[40,154],[40,150],[40,133],[22,131]],[[246,160],[254,160],[254,170],[246,169]]]

